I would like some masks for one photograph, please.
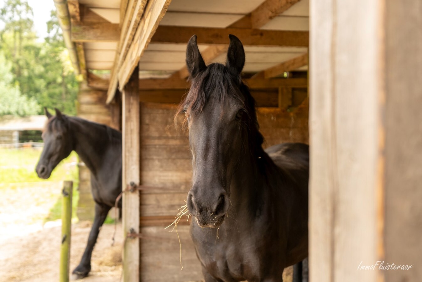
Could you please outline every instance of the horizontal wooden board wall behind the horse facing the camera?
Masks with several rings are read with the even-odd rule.
[[[141,222],[147,222],[141,223],[145,237],[141,239],[141,281],[203,279],[186,218],[178,225],[182,271],[176,232],[164,229],[166,220],[156,220],[174,217],[185,204],[192,184],[192,155],[187,132],[175,126],[176,108],[176,104],[141,103],[141,184],[151,187],[141,194]],[[258,108],[257,116],[265,147],[282,142],[308,143],[307,99],[293,113]]]

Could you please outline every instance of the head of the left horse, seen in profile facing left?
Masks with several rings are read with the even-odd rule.
[[[35,168],[38,177],[47,179],[51,171],[68,157],[73,150],[72,137],[69,134],[69,120],[56,109],[56,116],[52,116],[44,108],[48,121],[43,131],[44,148],[40,160]]]

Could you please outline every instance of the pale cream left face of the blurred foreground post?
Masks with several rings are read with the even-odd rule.
[[[358,270],[376,263],[381,241],[381,4],[310,3],[312,281],[375,281],[381,272]]]

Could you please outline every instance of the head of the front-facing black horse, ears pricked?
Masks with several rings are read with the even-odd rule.
[[[262,144],[255,101],[241,80],[245,52],[230,35],[226,65],[206,66],[196,35],[189,40],[186,63],[191,88],[179,111],[186,115],[193,156],[192,188],[187,207],[200,227],[218,227],[230,206],[230,183],[248,142]],[[246,144],[248,143],[248,144]]]

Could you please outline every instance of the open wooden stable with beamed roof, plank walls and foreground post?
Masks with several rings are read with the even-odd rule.
[[[55,4],[81,77],[78,115],[122,130],[124,281],[202,279],[186,218],[178,235],[164,230],[191,185],[187,132],[174,117],[189,89],[184,60],[193,34],[207,64],[225,62],[229,34],[242,41],[242,77],[257,100],[265,146],[310,143],[311,280],[422,276],[412,251],[422,247],[422,225],[412,224],[422,215],[417,0]],[[377,260],[415,267],[357,269]]]

